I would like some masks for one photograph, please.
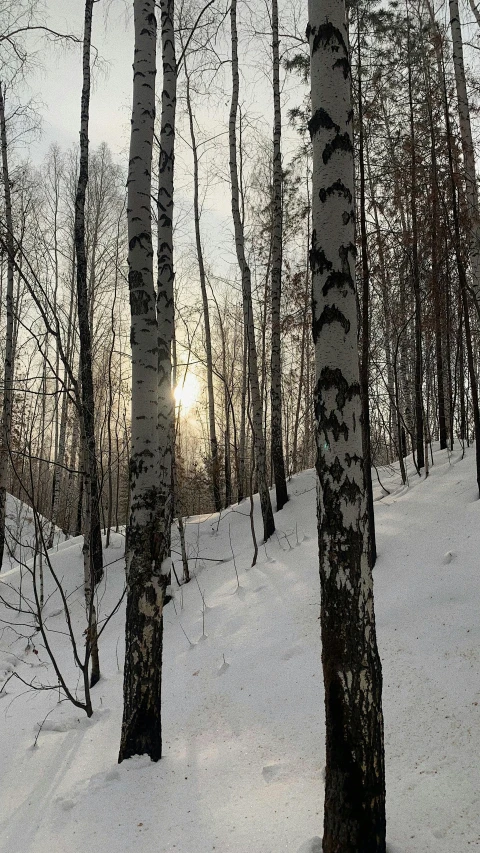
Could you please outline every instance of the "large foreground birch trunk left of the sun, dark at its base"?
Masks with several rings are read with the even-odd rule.
[[[151,168],[155,121],[155,0],[134,2],[133,109],[127,183],[132,346],[131,507],[127,532],[124,706],[119,762],[162,755],[165,553],[159,535],[158,327]]]

